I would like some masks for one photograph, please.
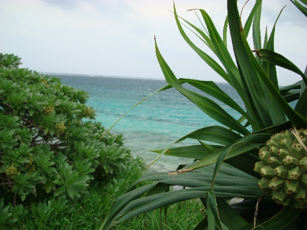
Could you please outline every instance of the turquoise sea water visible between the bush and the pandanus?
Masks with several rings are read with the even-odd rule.
[[[139,100],[166,85],[165,80],[152,79],[65,75],[57,75],[57,77],[64,84],[89,92],[87,103],[96,109],[96,120],[102,122],[106,128],[110,127]],[[243,106],[238,94],[229,84],[217,83],[217,85]],[[188,84],[183,86],[198,91]],[[233,109],[217,100],[215,101],[234,118],[240,117]],[[191,131],[214,124],[217,124],[215,120],[171,88],[158,92],[141,102],[126,114],[111,131],[122,133],[125,138],[125,146],[132,150],[134,156],[142,156],[149,164],[158,154],[147,150],[165,148]],[[199,143],[197,140],[186,139],[174,146],[187,144]],[[174,170],[178,164],[191,161],[165,155],[148,169],[154,171]]]

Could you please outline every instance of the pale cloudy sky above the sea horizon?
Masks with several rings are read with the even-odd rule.
[[[238,0],[239,9],[245,0]],[[244,22],[254,4],[242,12]],[[201,27],[191,8],[207,11],[222,32],[226,0],[175,0],[177,14]],[[307,64],[307,18],[289,0],[263,0],[261,32],[268,32],[281,10],[275,51],[302,71]],[[176,77],[225,82],[183,40],[171,11],[172,0],[0,0],[0,52],[22,58],[21,67],[38,72],[163,79],[154,35]],[[189,30],[192,41],[215,56]],[[228,34],[228,47],[231,47]],[[248,40],[251,44],[251,32]],[[262,38],[263,40],[263,38]],[[231,50],[231,48],[230,48]],[[216,58],[215,58],[216,59]],[[279,85],[300,76],[277,68]]]

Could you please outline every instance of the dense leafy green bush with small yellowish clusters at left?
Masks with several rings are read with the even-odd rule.
[[[49,197],[48,205],[32,205],[39,221],[71,211],[68,204],[90,180],[115,173],[131,158],[121,135],[99,139],[105,130],[91,120],[87,92],[19,64],[17,56],[0,53],[0,192],[13,194],[0,199],[0,225],[16,220],[17,204],[29,194]]]

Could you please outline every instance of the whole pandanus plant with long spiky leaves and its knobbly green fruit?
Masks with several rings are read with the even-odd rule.
[[[306,0],[301,0],[301,4],[291,1],[307,16],[303,5],[307,4]],[[207,212],[201,222],[195,223],[194,229],[307,228],[306,70],[303,73],[274,52],[274,31],[280,13],[269,35],[265,30],[262,45],[261,3],[261,0],[255,1],[242,25],[236,0],[227,0],[222,36],[205,10],[199,9],[205,22],[204,32],[182,18],[179,21],[174,6],[176,24],[184,40],[237,91],[245,107],[240,107],[212,81],[177,79],[155,42],[157,60],[168,83],[157,91],[175,88],[221,125],[200,128],[164,149],[154,150],[159,156],[167,154],[195,160],[179,165],[175,171],[145,173],[112,204],[100,229],[109,229],[156,208],[164,207],[166,211],[167,205],[193,198],[199,198]],[[221,65],[194,45],[181,23],[190,26]],[[228,28],[234,60],[227,48]],[[246,40],[250,28],[253,48]],[[279,88],[276,65],[297,73],[302,80]],[[233,118],[208,96],[184,88],[183,83],[221,101],[241,117]],[[186,138],[197,139],[200,144],[171,148],[172,144]],[[135,188],[141,181],[154,182]],[[170,190],[173,185],[185,189]],[[233,197],[243,201],[229,204],[227,201]]]

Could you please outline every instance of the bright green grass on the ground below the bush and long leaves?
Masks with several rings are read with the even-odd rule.
[[[48,219],[46,224],[37,225],[35,217],[30,211],[17,217],[18,228],[15,229],[98,229],[101,225],[109,206],[131,183],[144,172],[141,158],[128,160],[125,167],[114,177],[103,181],[93,180],[88,186],[87,192],[76,198],[73,210],[70,213]],[[34,201],[35,202],[35,201]],[[37,201],[36,201],[37,202]],[[42,201],[47,203],[47,199]],[[191,229],[195,221],[203,218],[202,203],[199,199],[180,202],[167,207],[165,222],[165,209],[156,209],[134,218],[131,218],[115,226],[116,230],[148,229]],[[29,209],[29,208],[27,208]],[[0,229],[14,229],[0,225]]]

